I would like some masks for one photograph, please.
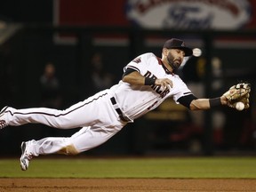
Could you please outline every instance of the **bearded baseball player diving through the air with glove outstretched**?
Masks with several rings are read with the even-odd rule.
[[[241,98],[246,99],[244,104],[246,108],[249,107],[248,84],[241,84],[239,89],[234,89],[235,93],[239,90],[238,96],[229,90],[219,98],[196,98],[180,76],[174,74],[184,57],[191,55],[192,50],[182,40],[172,38],[165,42],[162,58],[151,52],[141,54],[124,68],[119,84],[70,108],[3,108],[0,113],[0,128],[21,124],[46,124],[59,129],[82,127],[69,138],[49,137],[22,142],[21,169],[27,170],[29,161],[34,156],[54,153],[76,155],[95,148],[119,132],[125,124],[132,123],[169,97],[191,110],[204,110],[220,105],[232,107],[231,101]],[[241,93],[240,87],[244,87],[246,91]]]

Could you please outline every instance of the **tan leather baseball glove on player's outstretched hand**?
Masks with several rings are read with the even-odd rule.
[[[239,83],[233,85],[229,88],[228,92],[225,92],[223,95],[228,100],[228,107],[236,108],[236,102],[243,102],[244,108],[249,108],[249,98],[251,92],[251,84]]]

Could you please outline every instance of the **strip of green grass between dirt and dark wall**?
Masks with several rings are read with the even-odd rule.
[[[0,160],[0,178],[244,178],[256,179],[256,157],[35,158]]]

